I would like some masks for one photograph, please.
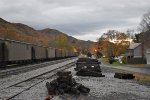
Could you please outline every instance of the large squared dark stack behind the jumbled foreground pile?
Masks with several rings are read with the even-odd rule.
[[[75,68],[77,71],[76,75],[104,77],[105,75],[102,75],[101,73],[100,64],[101,62],[99,62],[97,59],[79,58]]]

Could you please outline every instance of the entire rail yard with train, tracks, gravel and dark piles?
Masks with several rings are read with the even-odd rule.
[[[1,100],[150,99],[149,83],[71,49],[0,39],[0,66]]]

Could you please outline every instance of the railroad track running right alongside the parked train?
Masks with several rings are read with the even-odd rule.
[[[44,62],[44,63],[34,64],[34,65],[27,65],[27,66],[22,66],[22,67],[17,67],[17,68],[11,68],[11,69],[6,69],[6,70],[1,70],[0,71],[0,78],[8,77],[10,75],[17,75],[19,73],[25,73],[27,71],[32,71],[32,70],[35,70],[38,68],[46,67],[48,65],[57,64],[57,63],[71,60],[74,58],[75,57],[67,58],[67,59],[61,59],[61,60],[55,60],[55,61],[50,61],[50,62]]]

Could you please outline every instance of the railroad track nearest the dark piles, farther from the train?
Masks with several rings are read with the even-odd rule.
[[[41,82],[43,82],[49,78],[54,77],[58,71],[68,69],[68,68],[72,67],[73,65],[75,65],[75,62],[71,62],[69,64],[60,66],[60,67],[52,69],[48,72],[42,73],[38,76],[28,78],[28,79],[23,80],[21,82],[12,84],[12,85],[4,88],[4,89],[1,89],[0,90],[0,99],[11,100],[14,97],[18,96],[19,94],[21,94],[21,93],[29,90],[30,88],[40,84]]]

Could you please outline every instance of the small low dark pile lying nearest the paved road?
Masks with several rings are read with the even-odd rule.
[[[134,79],[135,76],[130,73],[115,73],[114,78],[119,78],[119,79]]]

